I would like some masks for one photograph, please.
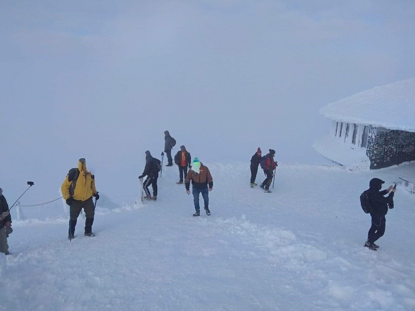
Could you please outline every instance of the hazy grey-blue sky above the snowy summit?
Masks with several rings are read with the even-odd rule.
[[[166,129],[202,162],[324,164],[318,110],[414,77],[414,20],[414,1],[0,1],[0,186],[48,201],[85,157],[131,201]]]

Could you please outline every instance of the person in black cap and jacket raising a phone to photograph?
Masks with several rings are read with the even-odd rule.
[[[373,178],[369,182],[368,202],[371,206],[372,226],[367,234],[367,241],[364,243],[364,247],[368,247],[373,251],[376,251],[379,247],[375,242],[385,233],[385,215],[388,213],[388,204],[393,202],[396,191],[396,189],[393,189],[393,186],[380,191],[383,183],[385,182],[378,178]],[[385,198],[384,196],[388,193],[389,195]],[[392,204],[389,205],[389,208],[393,208]]]

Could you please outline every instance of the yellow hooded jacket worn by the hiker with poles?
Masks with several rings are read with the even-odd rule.
[[[76,186],[72,198],[78,201],[86,201],[96,193],[95,189],[95,180],[92,177],[92,174],[87,171],[85,159],[79,159],[78,162],[79,176],[76,181]],[[69,188],[71,187],[73,181],[68,180],[68,175],[66,175],[65,180],[62,183],[62,196],[63,199],[68,200],[71,194],[69,193]]]

